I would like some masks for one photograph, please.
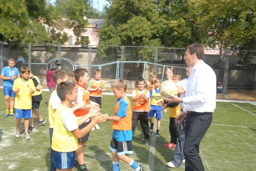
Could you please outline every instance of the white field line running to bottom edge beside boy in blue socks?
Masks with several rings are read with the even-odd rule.
[[[156,132],[156,119],[154,119],[154,128],[153,131]],[[155,160],[155,150],[156,150],[156,136],[155,133],[152,133],[152,138],[150,141],[150,148],[148,153],[148,165],[147,165],[147,171],[153,171],[154,170],[154,160]]]

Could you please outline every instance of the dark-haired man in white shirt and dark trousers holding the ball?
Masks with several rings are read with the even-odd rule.
[[[185,49],[184,60],[191,67],[186,95],[183,98],[170,95],[166,101],[183,102],[185,108],[176,117],[176,123],[186,117],[184,155],[185,171],[204,171],[199,156],[200,141],[212,123],[212,112],[216,107],[216,75],[212,68],[204,63],[204,47],[191,44]]]

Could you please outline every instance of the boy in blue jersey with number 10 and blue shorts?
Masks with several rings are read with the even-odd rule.
[[[16,78],[20,78],[20,72],[18,68],[14,67],[15,65],[15,60],[10,58],[8,61],[8,66],[4,67],[0,78],[4,80],[4,104],[6,108],[6,113],[4,117],[8,116],[16,116],[13,113],[13,107],[14,107],[14,97],[15,93],[12,91],[13,83]],[[10,102],[9,102],[10,98]],[[9,110],[9,105],[10,105],[10,110]]]

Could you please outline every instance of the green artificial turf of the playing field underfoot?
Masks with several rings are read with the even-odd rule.
[[[46,119],[46,124],[36,127],[36,130],[30,133],[31,140],[28,141],[24,139],[23,134],[20,138],[14,137],[15,117],[3,117],[5,114],[4,94],[3,89],[0,89],[2,98],[0,101],[1,171],[49,170],[50,136],[48,110],[46,109],[47,95],[48,92],[43,92],[43,100],[39,109],[42,117]],[[115,100],[112,95],[103,95],[101,112],[113,115]],[[131,104],[133,107],[132,101]],[[166,166],[166,162],[172,160],[174,151],[174,149],[164,147],[164,143],[170,141],[168,112],[163,113],[160,137],[156,138],[154,131],[150,132],[151,146],[144,145],[140,123],[137,125],[132,141],[134,154],[130,157],[143,165],[145,171],[184,171],[185,169],[184,163],[182,167],[175,169]],[[255,170],[256,115],[252,113],[256,114],[256,106],[248,103],[217,102],[212,125],[200,144],[200,156],[206,171]],[[35,116],[34,123],[37,121],[38,118]],[[99,126],[99,130],[90,131],[89,141],[85,147],[85,163],[91,171],[111,171],[112,155],[109,145],[112,139],[112,122],[106,121],[100,123]],[[21,128],[24,129],[23,119]],[[74,170],[76,171],[77,168]],[[133,169],[120,161],[120,170],[132,171]]]

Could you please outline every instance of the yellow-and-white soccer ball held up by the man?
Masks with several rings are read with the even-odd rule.
[[[168,95],[168,93],[172,94],[172,95],[178,95],[178,85],[175,84],[172,81],[166,80],[164,82],[162,82],[162,84],[159,87],[159,93],[160,95],[162,95],[162,97],[166,97],[166,98],[172,98],[170,95]]]

